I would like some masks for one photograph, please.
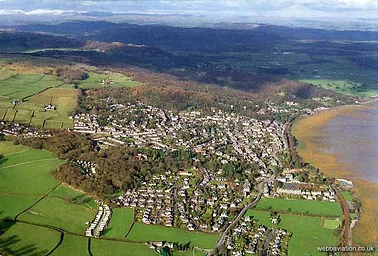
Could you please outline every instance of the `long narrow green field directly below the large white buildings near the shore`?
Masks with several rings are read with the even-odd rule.
[[[261,198],[256,205],[259,210],[276,210],[281,212],[303,213],[324,216],[341,216],[338,203],[313,200],[286,200],[281,198]]]

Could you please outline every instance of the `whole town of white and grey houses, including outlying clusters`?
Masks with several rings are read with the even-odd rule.
[[[278,154],[287,147],[286,124],[241,116],[232,112],[232,106],[229,112],[215,108],[212,113],[174,112],[141,102],[120,104],[111,98],[102,101],[106,103],[103,111],[107,115],[82,113],[72,117],[73,131],[92,135],[100,148],[125,145],[168,152],[184,149],[216,161],[218,166],[215,169],[192,166],[178,172],[166,170],[153,175],[141,187],[110,200],[111,207],[134,208],[135,221],[223,234],[218,245],[225,246],[232,255],[263,252],[283,255],[287,252],[290,232],[267,228],[253,216],[242,217],[241,212],[256,205],[256,198],[261,196],[336,201],[332,188],[298,179],[300,170],[283,170],[276,175],[277,170],[282,170]],[[268,107],[260,112],[297,111],[295,103],[286,105],[289,110]],[[3,132],[9,135],[51,136],[23,125],[3,125],[6,127]],[[147,156],[138,154],[135,158],[143,160]],[[71,162],[82,175],[96,178],[96,164],[79,159]],[[234,164],[239,162],[249,168],[235,176]],[[100,237],[109,224],[110,206],[104,202],[99,204],[95,218],[87,223],[86,236]],[[277,224],[278,219],[272,217],[271,222]]]

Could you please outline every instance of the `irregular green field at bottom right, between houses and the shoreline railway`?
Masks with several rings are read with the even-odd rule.
[[[337,238],[333,230],[322,227],[321,217],[280,214],[281,222],[272,224],[269,212],[249,210],[246,215],[254,216],[267,227],[278,227],[293,233],[289,241],[289,256],[324,255],[316,250],[317,246],[336,246]]]

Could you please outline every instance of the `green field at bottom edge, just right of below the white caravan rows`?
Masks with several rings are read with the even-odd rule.
[[[154,250],[149,249],[145,244],[141,243],[126,243],[117,241],[105,241],[99,239],[92,239],[91,252],[94,256],[156,256]],[[176,256],[176,254],[174,255]]]

